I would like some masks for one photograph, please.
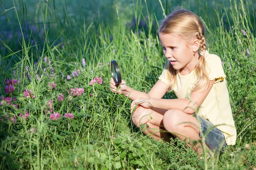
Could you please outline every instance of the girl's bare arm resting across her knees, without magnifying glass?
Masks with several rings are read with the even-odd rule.
[[[140,105],[146,105],[143,107],[150,107],[151,108],[160,108],[164,110],[170,110],[170,109],[179,109],[180,111],[183,111],[184,113],[192,114],[195,113],[195,109],[197,109],[203,102],[204,99],[209,94],[209,91],[211,90],[213,84],[215,81],[209,82],[209,87],[204,92],[192,92],[190,95],[190,99],[156,99],[156,98],[150,98],[150,99],[140,99],[135,100],[134,104],[132,106],[135,106],[137,103],[140,103],[140,101],[144,100],[145,102],[140,103]],[[150,104],[149,104],[150,103]],[[131,108],[132,110],[133,108]]]

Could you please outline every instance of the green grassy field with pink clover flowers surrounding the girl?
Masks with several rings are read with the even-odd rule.
[[[0,1],[1,170],[256,169],[255,0],[160,2]],[[109,89],[112,59],[130,87],[151,89],[165,63],[156,29],[176,6],[204,21],[227,75],[236,145],[210,159],[144,136]]]

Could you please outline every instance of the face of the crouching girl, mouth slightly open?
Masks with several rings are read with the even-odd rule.
[[[198,62],[198,54],[193,55],[193,45],[195,44],[192,44],[192,48],[189,48],[185,40],[171,34],[160,33],[159,38],[163,46],[163,54],[173,68],[180,70],[183,75],[191,73]]]

